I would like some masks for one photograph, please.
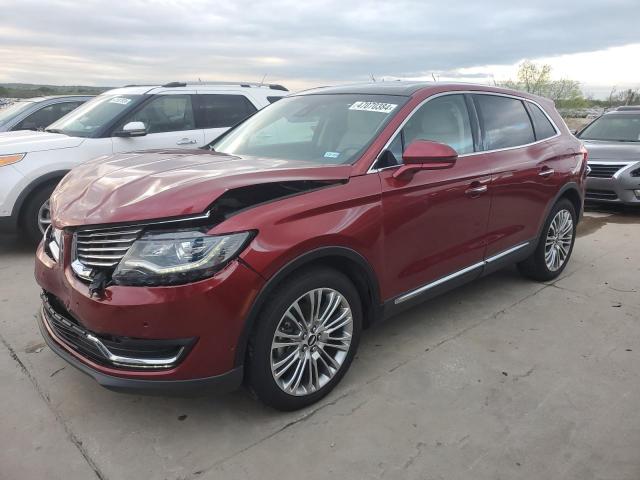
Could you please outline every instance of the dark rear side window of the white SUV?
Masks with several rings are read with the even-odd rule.
[[[257,111],[244,95],[197,95],[200,128],[232,127]]]

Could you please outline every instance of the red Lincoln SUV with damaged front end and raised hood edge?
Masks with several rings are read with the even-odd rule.
[[[374,83],[286,97],[208,148],[99,158],[51,199],[49,346],[115,390],[326,395],[363,328],[508,264],[557,277],[586,152],[543,98]]]

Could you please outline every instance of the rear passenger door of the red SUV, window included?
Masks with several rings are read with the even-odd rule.
[[[536,140],[525,101],[494,94],[473,97],[484,151],[479,158],[490,166],[492,175],[486,251],[491,261],[532,246],[558,188],[554,166],[559,156],[553,142]],[[546,135],[549,137],[548,129]]]

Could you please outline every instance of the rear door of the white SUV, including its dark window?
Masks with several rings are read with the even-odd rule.
[[[196,122],[204,131],[204,143],[210,143],[230,127],[258,111],[239,93],[205,93],[194,96]]]

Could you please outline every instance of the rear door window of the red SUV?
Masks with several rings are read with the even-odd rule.
[[[517,147],[535,141],[531,120],[520,100],[496,95],[475,95],[484,149]]]

